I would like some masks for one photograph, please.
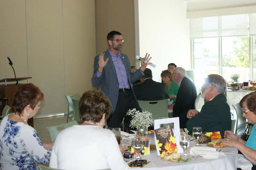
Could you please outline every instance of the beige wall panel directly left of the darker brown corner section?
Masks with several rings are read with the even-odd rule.
[[[92,89],[96,53],[94,0],[63,0],[66,94]]]

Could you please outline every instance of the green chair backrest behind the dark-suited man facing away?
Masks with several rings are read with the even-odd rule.
[[[156,100],[156,101],[142,101],[138,100],[142,111],[148,111],[152,113],[153,119],[159,119],[160,117],[168,117],[168,99]]]

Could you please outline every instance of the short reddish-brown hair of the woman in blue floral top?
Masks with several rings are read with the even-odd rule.
[[[30,105],[34,110],[35,106],[43,100],[44,94],[36,85],[32,83],[24,84],[14,93],[11,112],[23,116],[23,111],[27,105]]]

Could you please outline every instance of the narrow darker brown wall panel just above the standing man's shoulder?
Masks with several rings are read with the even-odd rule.
[[[109,1],[95,0],[96,54],[105,51],[109,45],[106,36],[109,30]]]

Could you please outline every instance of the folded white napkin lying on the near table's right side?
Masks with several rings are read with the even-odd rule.
[[[204,159],[216,159],[225,156],[223,152],[216,152],[215,148],[210,147],[192,147],[190,148],[190,155],[200,155]]]

